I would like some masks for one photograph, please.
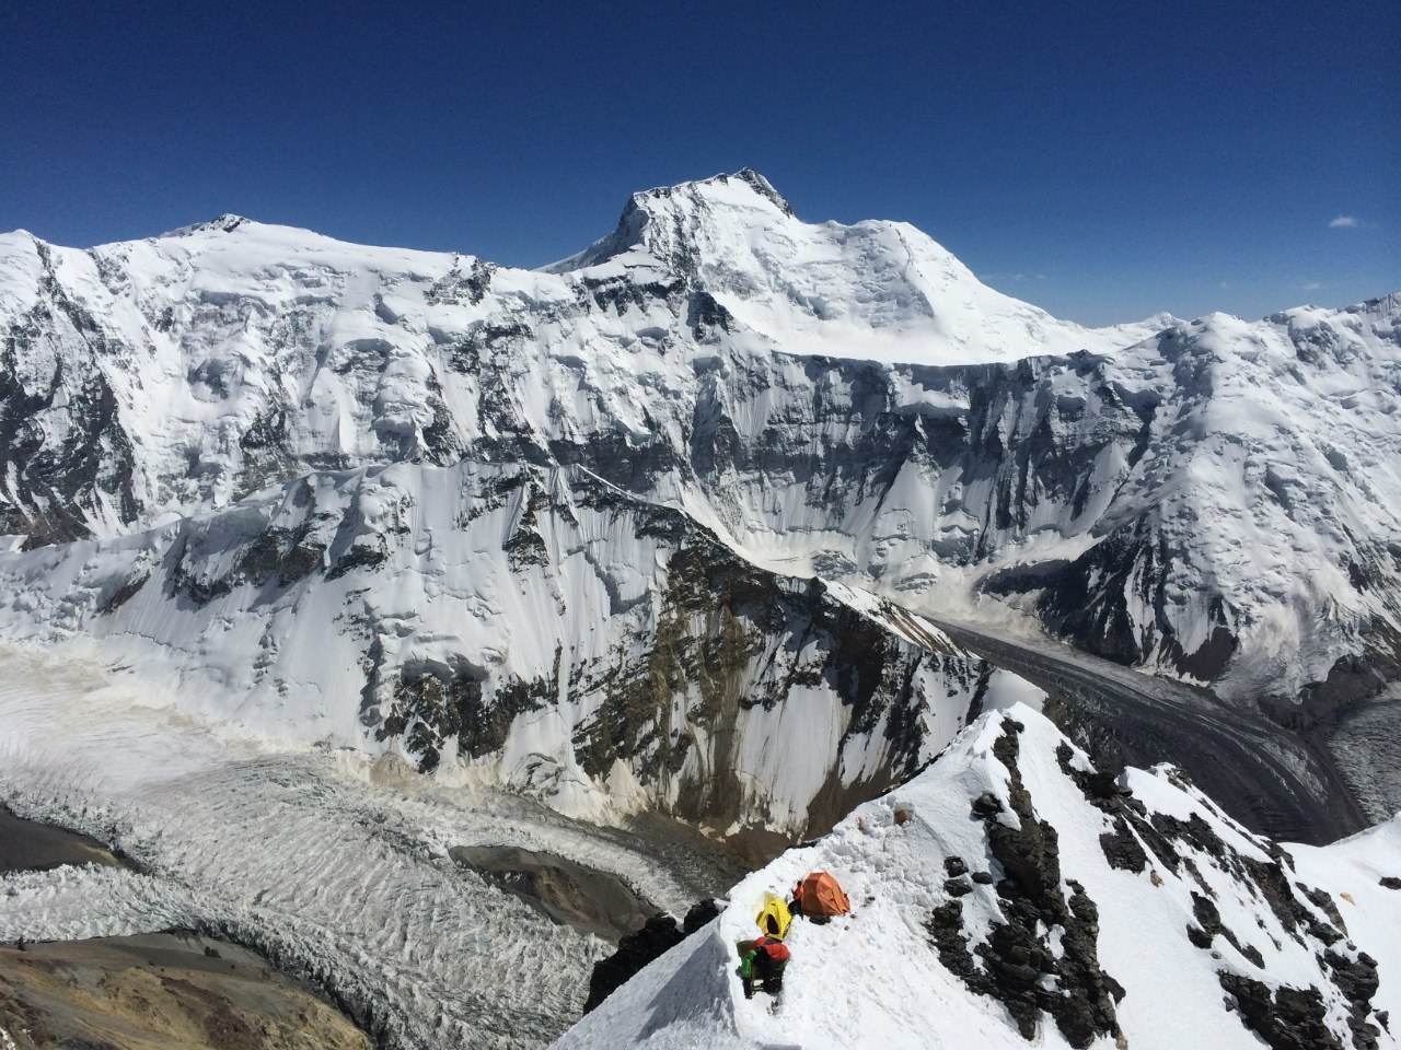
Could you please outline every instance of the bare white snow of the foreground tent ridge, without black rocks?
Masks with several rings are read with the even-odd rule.
[[[1286,928],[1264,900],[1259,885],[1241,876],[1238,858],[1268,865],[1271,844],[1222,815],[1174,769],[1129,769],[1122,783],[1149,815],[1199,820],[1224,848],[1216,854],[1202,848],[1202,839],[1175,839],[1181,862],[1174,867],[1154,857],[1152,848],[1146,850],[1149,860],[1142,872],[1111,867],[1100,836],[1112,830],[1112,822],[1066,776],[1058,749],[1069,749],[1065,753],[1075,769],[1090,769],[1089,760],[1024,704],[984,715],[919,777],[860,806],[817,844],[790,850],[740,882],[717,920],[646,967],[555,1046],[1070,1046],[1044,1012],[1035,1037],[1026,1040],[998,1000],[974,994],[940,963],[925,927],[932,911],[951,899],[946,858],[964,860],[971,872],[1005,875],[985,825],[969,819],[971,801],[984,792],[1009,802],[1009,769],[992,750],[1009,731],[1005,720],[1024,727],[1017,734],[1016,767],[1035,816],[1058,832],[1061,886],[1069,896],[1075,881],[1098,909],[1098,965],[1125,993],[1115,1007],[1122,1044],[1133,1050],[1257,1050],[1261,1040],[1237,1012],[1227,1009],[1231,997],[1217,977],[1217,972],[1227,972],[1269,988],[1320,988],[1328,1029],[1342,1046],[1352,1046],[1348,1004],[1330,981],[1320,955],[1323,945]],[[1019,825],[1012,812],[993,819]],[[1146,846],[1146,840],[1140,841]],[[1334,846],[1289,846],[1285,855],[1289,883],[1323,890],[1339,910],[1346,934],[1335,951],[1348,959],[1365,952],[1376,960],[1380,988],[1372,1000],[1369,1023],[1377,1028],[1380,1046],[1395,1046],[1397,1037],[1381,1029],[1376,1011],[1390,1011],[1394,1018],[1401,1007],[1401,904],[1398,890],[1383,888],[1379,878],[1401,874],[1401,816]],[[752,904],[765,892],[792,890],[810,871],[838,878],[850,897],[852,914],[827,925],[796,920],[787,937],[793,958],[776,1008],[762,993],[747,1001],[734,945],[757,934]],[[1264,966],[1220,934],[1209,949],[1191,944],[1187,930],[1195,924],[1194,892],[1212,900],[1223,927],[1243,948],[1258,951]],[[972,948],[1005,917],[993,885],[972,883],[961,900],[964,934]],[[1302,892],[1296,900],[1304,914],[1327,921]],[[1062,932],[1040,928],[1052,951]],[[1042,987],[1055,991],[1055,981],[1042,977]],[[1112,1047],[1115,1036],[1100,1035],[1093,1044]]]

